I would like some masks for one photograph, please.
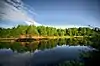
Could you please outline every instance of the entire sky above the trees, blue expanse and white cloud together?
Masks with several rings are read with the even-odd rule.
[[[16,6],[12,5],[13,7],[10,6],[9,8],[8,6],[4,5],[5,3],[1,3],[1,12],[8,15],[4,16],[0,14],[0,26],[2,27],[15,26],[17,24],[31,24],[32,22],[34,22],[36,25],[50,25],[59,27],[67,27],[73,25],[91,25],[94,27],[100,27],[99,0],[7,1],[16,1],[18,3]],[[11,8],[13,8],[13,10]]]

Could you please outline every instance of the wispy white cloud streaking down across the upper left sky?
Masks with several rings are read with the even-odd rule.
[[[24,6],[21,0],[2,0],[0,1],[0,20],[9,20],[11,22],[25,22],[26,24],[40,25],[29,16],[36,14],[32,8]],[[5,8],[4,8],[5,7]]]

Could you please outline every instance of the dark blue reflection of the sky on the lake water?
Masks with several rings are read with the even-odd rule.
[[[36,50],[35,53],[17,53],[11,49],[0,49],[1,66],[41,66],[66,60],[80,60],[82,51],[92,50],[87,46],[59,46],[53,49]]]

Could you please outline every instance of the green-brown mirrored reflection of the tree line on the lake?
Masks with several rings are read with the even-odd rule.
[[[26,52],[26,51],[35,51],[36,49],[44,50],[51,49],[56,47],[57,45],[89,45],[91,42],[89,40],[83,39],[49,39],[49,40],[41,40],[34,42],[0,42],[0,48],[11,48],[13,51],[17,50],[18,52]]]

